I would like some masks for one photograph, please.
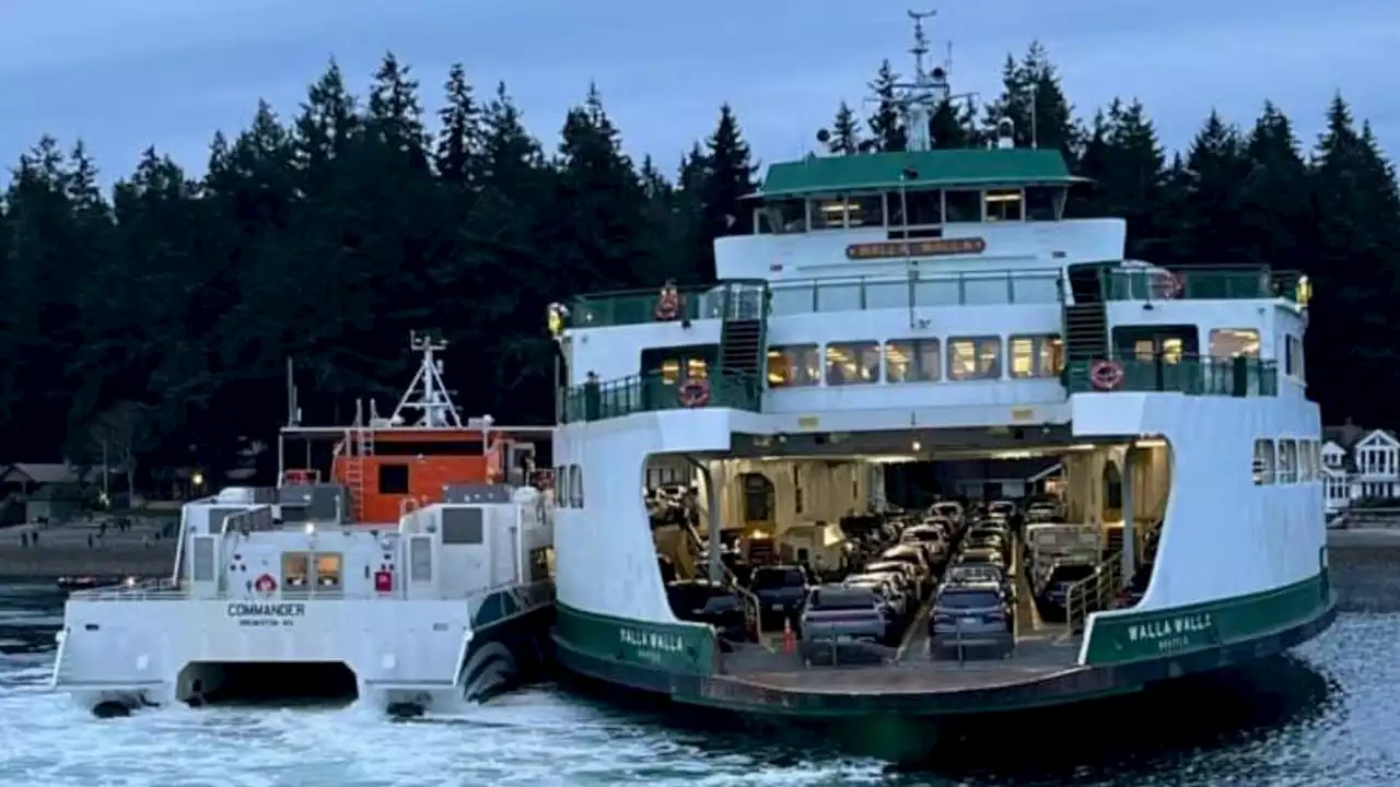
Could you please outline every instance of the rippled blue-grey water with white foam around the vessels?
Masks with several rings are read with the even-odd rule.
[[[1400,590],[1371,602],[1289,658],[1054,721],[963,731],[927,770],[900,772],[797,732],[682,724],[552,686],[410,724],[353,706],[98,721],[48,689],[62,598],[10,584],[0,585],[0,786],[1393,786]]]

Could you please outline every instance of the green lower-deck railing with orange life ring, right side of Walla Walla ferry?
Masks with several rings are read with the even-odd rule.
[[[1193,396],[1277,396],[1278,363],[1264,358],[1180,356],[1176,358],[1114,358],[1070,361],[1065,388],[1071,394],[1176,392]]]

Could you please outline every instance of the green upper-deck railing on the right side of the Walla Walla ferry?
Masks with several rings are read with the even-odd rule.
[[[1305,301],[1301,273],[1273,270],[1267,265],[1173,267],[1109,267],[1100,277],[1107,301],[1249,300]]]

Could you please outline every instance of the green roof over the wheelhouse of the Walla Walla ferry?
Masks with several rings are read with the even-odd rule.
[[[1070,185],[1084,181],[1070,174],[1058,150],[925,150],[823,155],[769,167],[756,197],[773,199],[819,193],[899,189],[900,172],[913,168],[927,189],[956,186]]]

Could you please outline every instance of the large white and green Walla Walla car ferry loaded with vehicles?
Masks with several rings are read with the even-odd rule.
[[[769,167],[720,281],[552,307],[559,661],[893,756],[1330,625],[1306,277],[1124,259],[1057,150]],[[820,134],[819,134],[820,136]]]

